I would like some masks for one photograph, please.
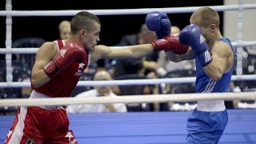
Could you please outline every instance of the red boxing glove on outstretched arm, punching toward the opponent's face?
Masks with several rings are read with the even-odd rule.
[[[174,54],[185,54],[189,50],[190,46],[182,45],[178,41],[178,34],[167,35],[165,38],[155,40],[152,42],[154,50],[170,50]]]

